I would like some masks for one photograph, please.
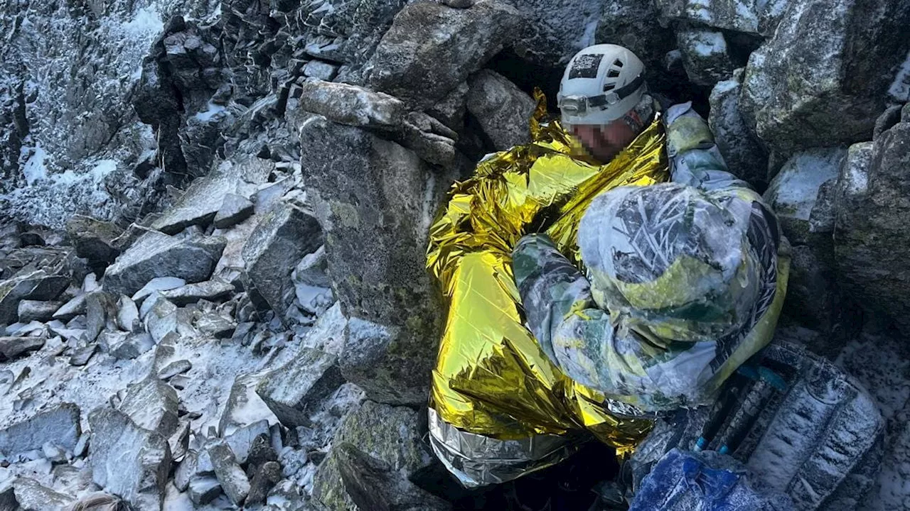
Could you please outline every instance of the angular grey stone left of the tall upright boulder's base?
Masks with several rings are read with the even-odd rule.
[[[286,365],[263,376],[256,393],[282,425],[310,426],[311,406],[343,383],[336,356],[301,348]]]

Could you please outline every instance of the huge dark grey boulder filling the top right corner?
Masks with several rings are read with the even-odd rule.
[[[740,98],[749,124],[784,155],[867,140],[910,49],[908,24],[905,0],[789,3],[749,57]]]

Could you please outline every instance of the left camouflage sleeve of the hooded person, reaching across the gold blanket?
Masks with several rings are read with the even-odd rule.
[[[592,299],[588,280],[549,237],[521,238],[513,269],[531,333],[566,376],[644,410],[672,409],[698,394],[690,370],[664,364],[682,355],[681,347],[693,346],[657,346],[614,324]],[[690,363],[710,358],[713,349],[695,349]]]

